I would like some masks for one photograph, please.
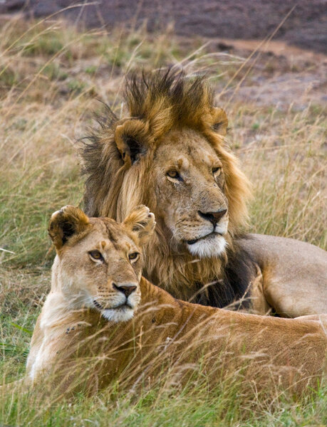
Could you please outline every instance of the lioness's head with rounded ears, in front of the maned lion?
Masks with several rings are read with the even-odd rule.
[[[129,320],[140,302],[142,246],[155,228],[145,206],[123,223],[88,218],[64,206],[51,216],[49,234],[56,248],[54,274],[72,308],[91,307],[108,320]]]

